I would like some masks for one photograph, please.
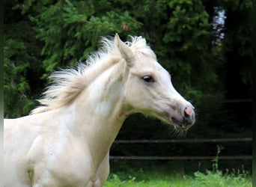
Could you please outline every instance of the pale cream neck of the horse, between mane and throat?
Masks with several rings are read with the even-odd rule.
[[[76,134],[86,141],[94,159],[103,159],[129,114],[124,101],[124,63],[98,76],[76,99]]]

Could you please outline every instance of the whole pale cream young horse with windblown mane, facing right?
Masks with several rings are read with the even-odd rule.
[[[50,78],[37,108],[4,120],[4,186],[103,186],[109,149],[130,114],[156,117],[177,131],[195,123],[191,102],[143,37],[103,37],[85,63]]]

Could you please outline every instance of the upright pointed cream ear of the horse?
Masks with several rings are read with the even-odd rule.
[[[127,61],[128,66],[132,66],[132,62],[134,61],[134,56],[132,54],[132,50],[129,49],[129,46],[125,44],[118,34],[115,34],[115,43],[118,45],[118,49],[121,52],[122,57]]]

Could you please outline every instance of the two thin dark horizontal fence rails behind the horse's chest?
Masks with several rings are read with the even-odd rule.
[[[221,143],[221,142],[252,142],[252,138],[218,138],[218,139],[180,139],[180,140],[116,140],[114,144],[178,144],[178,143]],[[206,160],[216,156],[109,156],[110,159],[130,160]],[[252,155],[218,156],[222,160],[252,159]]]

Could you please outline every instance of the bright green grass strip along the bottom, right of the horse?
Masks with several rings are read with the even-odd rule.
[[[222,174],[221,171],[195,172],[192,176],[133,171],[111,174],[104,187],[251,187],[247,174]]]

